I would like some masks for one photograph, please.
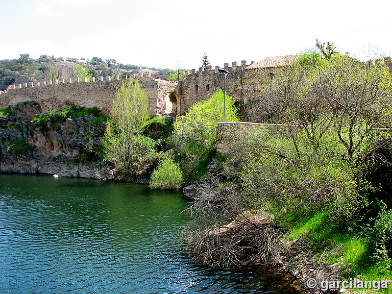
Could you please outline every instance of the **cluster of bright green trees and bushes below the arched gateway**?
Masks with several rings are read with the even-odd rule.
[[[228,121],[238,121],[233,103],[227,96]],[[139,83],[123,81],[106,122],[105,156],[115,162],[117,179],[150,175],[153,188],[179,189],[184,177],[192,179],[205,173],[215,153],[216,123],[223,120],[224,94],[218,91],[209,100],[196,103],[186,115],[176,117],[173,124],[167,118],[148,120],[147,107],[147,96]],[[159,124],[155,128],[171,135],[146,132],[147,126],[154,123]]]

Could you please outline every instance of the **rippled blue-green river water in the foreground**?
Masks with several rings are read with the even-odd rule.
[[[177,243],[180,193],[0,174],[0,293],[297,293],[270,268],[212,270]]]

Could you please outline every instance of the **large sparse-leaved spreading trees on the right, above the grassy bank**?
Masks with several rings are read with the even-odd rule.
[[[391,125],[392,79],[385,64],[330,57],[299,56],[274,69],[274,79],[269,71],[250,73],[261,86],[248,116],[283,126],[247,131],[225,147],[241,167],[244,195],[262,199],[261,207],[283,218],[325,205],[353,214],[360,195],[372,189],[364,166],[392,142],[391,132],[374,129]]]

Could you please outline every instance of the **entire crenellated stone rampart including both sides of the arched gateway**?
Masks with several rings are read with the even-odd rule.
[[[235,100],[244,98],[243,85],[247,77],[247,66],[245,60],[241,65],[233,62],[230,67],[228,63],[223,66],[223,69],[230,72],[226,77],[226,93]],[[208,100],[216,91],[224,89],[224,74],[219,73],[219,68],[208,66],[206,69],[200,67],[198,71],[188,71],[180,82],[154,79],[151,73],[133,74],[132,77],[139,80],[147,93],[150,116],[170,112],[185,114],[196,102]],[[11,85],[6,91],[0,92],[0,109],[33,100],[41,104],[43,112],[76,104],[84,107],[97,106],[102,113],[108,114],[122,80],[127,78],[129,77],[126,75],[117,75],[107,76],[105,79],[92,77],[90,82],[87,79],[62,79]]]

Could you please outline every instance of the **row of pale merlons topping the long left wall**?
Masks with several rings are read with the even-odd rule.
[[[28,82],[28,83],[19,83],[19,84],[13,84],[9,85],[5,91],[0,91],[0,94],[5,94],[9,92],[10,90],[16,90],[16,89],[22,89],[22,88],[29,88],[29,87],[42,87],[42,86],[47,86],[47,85],[58,85],[58,84],[72,84],[72,83],[92,83],[92,82],[103,82],[103,81],[115,81],[115,80],[120,80],[120,79],[129,79],[132,77],[133,79],[138,79],[138,80],[150,80],[153,81],[155,80],[153,77],[151,77],[151,73],[133,73],[131,75],[123,75],[120,77],[120,75],[108,75],[106,77],[99,76],[97,79],[95,76],[90,78],[90,81],[88,81],[87,77],[85,78],[76,78],[76,79],[56,79],[56,80],[49,80],[49,81],[38,81],[38,82]]]

